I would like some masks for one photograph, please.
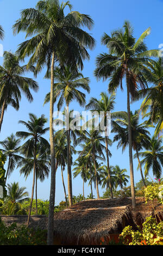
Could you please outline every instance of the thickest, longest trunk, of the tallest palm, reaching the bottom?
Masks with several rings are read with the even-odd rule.
[[[54,133],[53,133],[53,109],[54,109],[54,59],[55,54],[52,54],[51,64],[51,96],[50,96],[50,114],[49,114],[49,135],[51,144],[51,191],[49,196],[49,215],[48,215],[48,234],[47,244],[53,245],[54,232],[54,204],[55,204],[55,148],[54,148]]]

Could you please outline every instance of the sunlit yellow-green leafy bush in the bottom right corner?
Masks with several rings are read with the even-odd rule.
[[[156,223],[155,218],[152,216],[147,217],[146,221],[142,224],[142,230],[134,231],[130,225],[125,227],[119,236],[120,240],[126,245],[161,245],[163,240],[163,222]],[[131,237],[131,242],[126,239],[127,236]]]

